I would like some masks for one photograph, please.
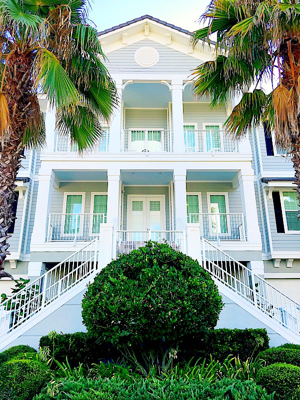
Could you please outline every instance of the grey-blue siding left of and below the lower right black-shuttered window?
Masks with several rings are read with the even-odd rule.
[[[288,251],[299,249],[300,233],[277,233],[274,206],[272,200],[267,200],[267,207],[273,251]]]

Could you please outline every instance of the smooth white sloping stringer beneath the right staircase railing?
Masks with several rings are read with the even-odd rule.
[[[223,283],[219,282],[217,279],[214,279],[215,284],[218,287],[220,294],[228,297],[232,300],[235,304],[242,307],[245,311],[247,311],[250,315],[254,318],[259,320],[261,323],[272,329],[276,332],[279,336],[283,337],[286,341],[292,342],[294,344],[300,344],[300,334],[293,332],[292,330],[280,325],[268,315],[264,314],[261,310],[256,308],[253,304],[249,301],[244,299],[240,294],[234,292],[232,289],[224,285]],[[251,326],[248,326],[251,327]]]

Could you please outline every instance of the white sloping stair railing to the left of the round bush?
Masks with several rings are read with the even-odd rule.
[[[88,243],[0,304],[0,337],[42,311],[98,269],[98,239]]]

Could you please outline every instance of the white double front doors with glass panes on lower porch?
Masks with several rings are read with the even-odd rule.
[[[165,196],[128,195],[127,230],[133,231],[132,240],[159,240],[165,230]]]

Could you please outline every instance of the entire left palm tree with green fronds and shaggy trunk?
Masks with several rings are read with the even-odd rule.
[[[86,0],[0,0],[0,278],[8,254],[15,178],[25,146],[45,141],[38,94],[56,109],[56,128],[80,152],[100,137],[117,105],[101,62]]]

